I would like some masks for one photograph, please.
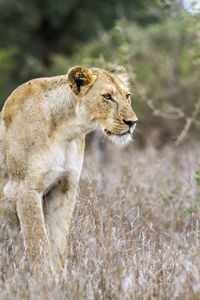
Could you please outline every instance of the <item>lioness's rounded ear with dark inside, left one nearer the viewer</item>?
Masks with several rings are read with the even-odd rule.
[[[82,66],[69,69],[67,75],[72,92],[78,97],[85,95],[96,79],[89,69]]]

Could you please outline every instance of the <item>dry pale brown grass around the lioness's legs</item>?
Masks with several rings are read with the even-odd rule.
[[[106,153],[86,153],[59,281],[33,284],[17,236],[0,299],[200,299],[199,145]]]

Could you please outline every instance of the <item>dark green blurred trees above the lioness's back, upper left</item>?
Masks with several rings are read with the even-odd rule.
[[[82,43],[125,17],[148,25],[155,0],[0,0],[0,101],[31,77],[45,76],[51,56],[70,56]]]

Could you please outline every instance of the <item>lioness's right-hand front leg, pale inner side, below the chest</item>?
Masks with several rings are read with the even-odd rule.
[[[76,202],[78,182],[72,173],[64,175],[59,184],[44,197],[45,221],[57,271],[64,266],[66,259],[69,227]]]

